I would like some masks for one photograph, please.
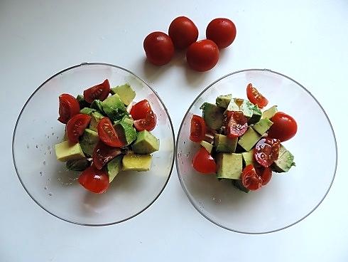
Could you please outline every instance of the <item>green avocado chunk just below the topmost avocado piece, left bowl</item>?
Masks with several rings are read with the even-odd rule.
[[[112,121],[119,120],[124,117],[124,115],[128,115],[124,103],[117,94],[105,99],[102,102],[102,108]]]

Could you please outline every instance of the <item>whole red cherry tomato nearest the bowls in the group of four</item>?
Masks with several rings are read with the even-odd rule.
[[[187,49],[186,60],[193,70],[199,72],[210,70],[219,61],[219,48],[209,39],[192,43]]]

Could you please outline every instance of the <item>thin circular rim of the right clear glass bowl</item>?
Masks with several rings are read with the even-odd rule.
[[[179,166],[178,166],[178,149],[179,149],[179,135],[183,129],[183,125],[184,125],[184,122],[185,122],[185,119],[187,117],[187,115],[189,114],[191,108],[193,107],[193,105],[195,105],[195,103],[197,102],[197,100],[201,97],[201,95],[203,93],[205,93],[205,91],[207,91],[209,88],[212,87],[212,85],[216,84],[217,82],[219,82],[220,80],[223,80],[224,78],[227,78],[231,75],[236,75],[238,73],[245,73],[245,72],[248,72],[248,71],[258,71],[258,72],[267,72],[267,73],[273,73],[275,75],[280,75],[282,76],[283,78],[287,78],[288,80],[292,81],[293,83],[297,84],[300,88],[303,88],[303,90],[305,90],[305,92],[308,93],[308,95],[310,95],[314,100],[315,102],[317,103],[317,105],[319,105],[320,109],[322,110],[322,112],[324,113],[326,119],[327,119],[327,122],[329,123],[330,125],[330,128],[331,128],[331,131],[332,131],[332,135],[333,135],[333,138],[334,138],[334,141],[335,141],[335,156],[336,156],[336,161],[335,161],[335,169],[334,169],[334,174],[332,176],[332,179],[331,179],[331,182],[330,182],[330,185],[327,189],[327,191],[325,192],[324,196],[322,196],[322,199],[320,199],[319,203],[316,204],[314,206],[314,208],[312,208],[305,216],[303,216],[303,218],[301,219],[298,219],[297,221],[291,223],[291,224],[288,224],[287,226],[282,226],[281,228],[278,228],[278,229],[273,229],[273,230],[269,230],[269,231],[264,231],[264,232],[247,232],[247,231],[239,231],[239,230],[236,230],[236,229],[230,229],[229,227],[227,226],[224,226],[222,224],[219,224],[217,221],[214,221],[214,219],[210,218],[209,216],[205,215],[205,213],[203,213],[199,207],[194,203],[194,201],[190,198],[190,194],[188,192],[188,190],[186,189],[185,187],[185,183],[183,182],[183,179],[182,179],[182,176],[179,172]],[[322,108],[322,105],[320,105],[319,101],[317,100],[317,98],[314,97],[314,95],[312,95],[312,93],[310,93],[310,91],[305,88],[303,85],[301,85],[300,83],[298,83],[298,81],[294,80],[293,78],[290,78],[288,75],[284,75],[283,73],[278,73],[274,70],[270,70],[270,69],[266,69],[266,68],[250,68],[250,69],[242,69],[242,70],[236,70],[232,73],[228,73],[227,75],[223,75],[221,78],[218,78],[217,80],[214,80],[214,82],[212,82],[210,85],[207,86],[207,88],[205,88],[204,90],[202,90],[202,92],[197,95],[197,97],[195,98],[195,100],[192,102],[192,104],[190,105],[190,107],[187,109],[187,112],[185,113],[185,116],[183,117],[183,120],[180,124],[180,128],[178,130],[178,135],[177,135],[177,139],[176,139],[176,145],[175,145],[175,164],[176,164],[176,169],[177,169],[177,173],[178,173],[178,178],[179,178],[179,182],[180,182],[180,185],[181,187],[183,188],[183,191],[185,192],[186,196],[187,196],[187,199],[189,199],[189,201],[191,202],[192,206],[195,207],[195,209],[203,216],[205,217],[205,219],[207,219],[208,221],[212,222],[213,224],[217,225],[217,226],[220,226],[222,227],[223,229],[227,229],[229,231],[233,231],[233,232],[236,232],[236,233],[239,233],[239,234],[249,234],[249,235],[261,235],[261,234],[269,234],[269,233],[273,233],[273,232],[276,232],[276,231],[281,231],[283,229],[288,229],[290,226],[293,226],[295,224],[298,224],[300,221],[303,221],[303,219],[305,219],[306,217],[308,217],[310,214],[312,214],[313,211],[315,211],[315,209],[317,209],[318,206],[320,206],[320,204],[322,204],[322,201],[324,201],[325,197],[327,196],[327,194],[330,192],[330,189],[332,187],[332,183],[334,182],[335,180],[335,176],[336,176],[336,171],[337,171],[337,159],[338,159],[338,152],[337,152],[337,140],[336,140],[336,136],[335,136],[335,131],[332,127],[332,124],[330,122],[330,119],[329,117],[327,116],[327,113],[325,112],[324,108]]]

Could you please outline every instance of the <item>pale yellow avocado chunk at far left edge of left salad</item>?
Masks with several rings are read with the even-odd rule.
[[[57,157],[57,160],[62,162],[85,158],[85,154],[83,154],[80,144],[70,144],[68,141],[55,145],[55,156]]]

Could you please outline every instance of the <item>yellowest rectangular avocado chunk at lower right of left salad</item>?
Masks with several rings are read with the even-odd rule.
[[[151,154],[125,154],[122,158],[124,171],[148,171],[151,167]]]

